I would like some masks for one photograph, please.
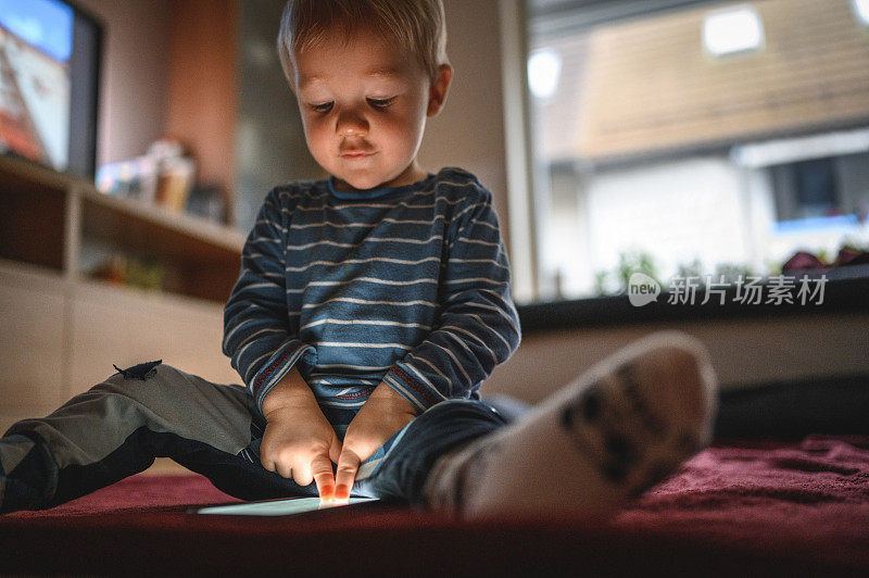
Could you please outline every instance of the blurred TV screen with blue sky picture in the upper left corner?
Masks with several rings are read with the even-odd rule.
[[[101,33],[61,0],[0,0],[0,150],[93,175]]]

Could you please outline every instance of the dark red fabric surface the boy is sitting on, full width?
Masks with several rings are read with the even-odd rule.
[[[610,523],[456,523],[375,505],[197,516],[236,500],[200,476],[135,476],[0,517],[0,571],[444,575],[869,571],[869,438],[717,443]]]

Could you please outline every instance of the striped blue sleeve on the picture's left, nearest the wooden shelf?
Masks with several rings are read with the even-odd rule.
[[[298,361],[316,363],[316,350],[290,329],[284,262],[287,229],[277,190],[266,197],[248,236],[241,274],[224,309],[224,354],[260,410],[265,394]]]

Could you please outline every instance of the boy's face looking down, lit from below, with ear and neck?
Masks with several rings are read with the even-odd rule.
[[[410,185],[426,117],[437,114],[451,71],[432,84],[418,61],[380,38],[337,34],[295,54],[295,95],[307,148],[339,189]]]

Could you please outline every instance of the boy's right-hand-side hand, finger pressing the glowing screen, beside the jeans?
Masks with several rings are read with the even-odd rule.
[[[335,475],[336,499],[350,498],[360,465],[416,415],[411,402],[386,384],[371,392],[344,435]]]

